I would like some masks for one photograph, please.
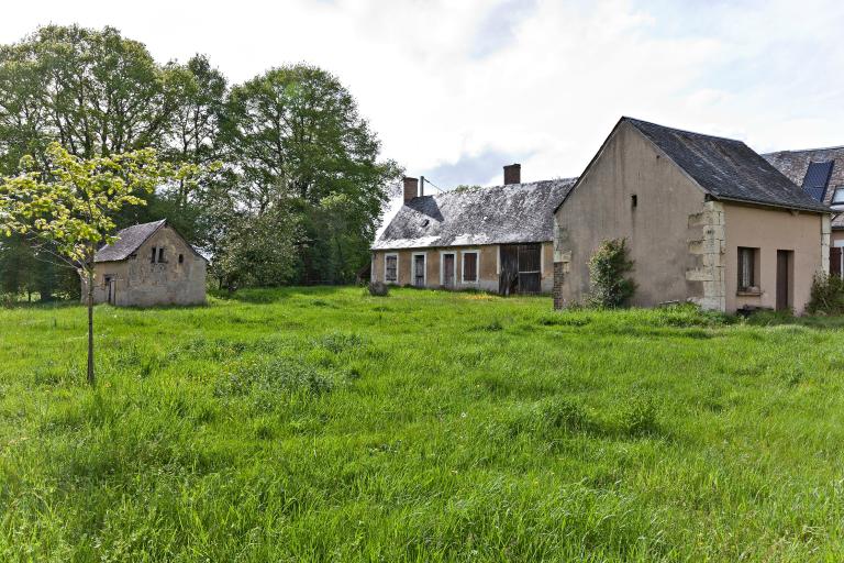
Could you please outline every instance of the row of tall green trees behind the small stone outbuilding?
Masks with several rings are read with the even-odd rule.
[[[168,219],[230,289],[353,280],[401,173],[330,73],[288,65],[233,85],[206,56],[158,64],[111,27],[51,25],[0,46],[0,175],[26,155],[46,168],[53,142],[80,158],[151,147],[202,170],[115,222]],[[18,234],[0,240],[0,292],[76,296],[79,277]]]

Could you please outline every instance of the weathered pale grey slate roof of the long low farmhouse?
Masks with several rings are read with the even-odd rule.
[[[577,178],[447,191],[408,201],[374,250],[549,242],[553,210]]]

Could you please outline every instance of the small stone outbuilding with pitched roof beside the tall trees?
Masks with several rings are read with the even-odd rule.
[[[123,229],[116,241],[97,251],[95,284],[97,303],[203,303],[206,258],[166,220],[136,224]]]

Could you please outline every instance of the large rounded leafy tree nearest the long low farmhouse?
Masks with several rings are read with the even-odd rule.
[[[240,201],[256,217],[285,207],[302,225],[297,280],[351,279],[399,172],[378,161],[352,95],[320,68],[274,68],[234,87],[225,117]]]

